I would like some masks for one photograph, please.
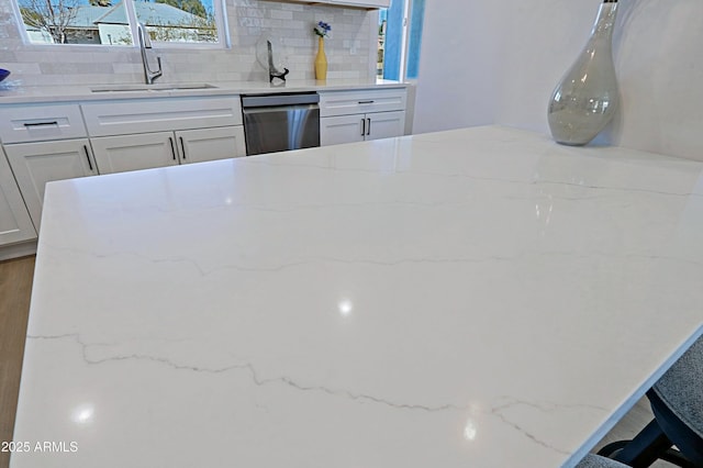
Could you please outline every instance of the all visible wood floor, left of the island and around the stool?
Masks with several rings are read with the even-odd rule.
[[[0,261],[0,441],[12,441],[33,274],[33,256]],[[610,442],[632,438],[651,417],[646,400],[640,401],[595,450]],[[0,468],[9,463],[8,454],[0,453]],[[654,466],[672,465],[658,461]]]

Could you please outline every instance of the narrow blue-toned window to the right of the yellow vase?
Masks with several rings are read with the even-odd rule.
[[[392,0],[379,13],[377,75],[392,80],[417,78],[425,0]]]

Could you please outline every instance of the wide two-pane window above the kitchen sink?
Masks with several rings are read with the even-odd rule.
[[[16,0],[31,44],[134,45],[137,22],[161,44],[225,44],[222,0]]]

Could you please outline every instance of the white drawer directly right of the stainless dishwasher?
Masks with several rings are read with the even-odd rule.
[[[320,92],[320,116],[404,111],[405,88]]]

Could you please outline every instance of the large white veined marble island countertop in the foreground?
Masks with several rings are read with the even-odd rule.
[[[703,331],[702,176],[479,127],[52,182],[11,466],[572,466]]]

